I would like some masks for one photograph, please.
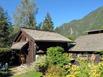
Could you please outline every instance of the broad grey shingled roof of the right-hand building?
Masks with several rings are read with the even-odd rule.
[[[84,35],[76,39],[72,51],[101,51],[103,50],[103,33]]]

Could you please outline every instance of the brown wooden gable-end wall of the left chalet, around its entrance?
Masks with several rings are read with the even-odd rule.
[[[34,57],[36,54],[35,40],[29,35],[27,35],[25,32],[20,31],[17,37],[15,38],[13,44],[18,42],[23,42],[23,41],[27,41],[27,44],[19,50],[19,53],[18,53],[20,57],[19,62],[20,64],[25,64],[25,63],[29,64],[35,60],[35,57]]]

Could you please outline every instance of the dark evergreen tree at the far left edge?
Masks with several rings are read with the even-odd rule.
[[[7,13],[0,7],[0,47],[7,47],[9,43],[9,26]]]

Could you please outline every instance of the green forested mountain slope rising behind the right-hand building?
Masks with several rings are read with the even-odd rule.
[[[78,36],[86,34],[86,31],[96,29],[103,29],[103,6],[90,12],[81,19],[62,24],[55,31],[68,38],[75,39]]]

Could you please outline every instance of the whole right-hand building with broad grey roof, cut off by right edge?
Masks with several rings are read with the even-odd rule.
[[[83,57],[94,62],[101,60],[103,51],[103,30],[89,31],[87,35],[75,40],[75,46],[69,50],[73,58]]]

